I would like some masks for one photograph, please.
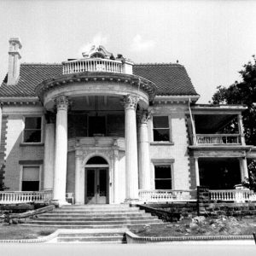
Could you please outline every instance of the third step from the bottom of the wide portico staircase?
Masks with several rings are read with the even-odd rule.
[[[152,220],[152,219],[158,219],[157,217],[154,216],[141,216],[140,218],[137,217],[110,217],[106,218],[104,216],[102,217],[93,217],[93,218],[81,218],[81,217],[76,217],[76,218],[70,218],[69,216],[66,218],[53,218],[53,217],[44,217],[44,216],[39,216],[38,218],[32,218],[32,220],[36,221],[84,221],[84,222],[96,222],[96,221],[133,221],[133,220]]]

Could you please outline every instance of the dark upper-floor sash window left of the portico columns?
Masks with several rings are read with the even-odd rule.
[[[24,143],[41,143],[42,141],[42,118],[26,117],[23,135]]]

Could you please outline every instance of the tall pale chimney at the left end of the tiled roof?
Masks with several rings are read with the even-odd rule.
[[[20,38],[9,39],[9,69],[7,85],[14,85],[20,76]]]

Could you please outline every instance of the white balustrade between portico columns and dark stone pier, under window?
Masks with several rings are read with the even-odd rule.
[[[195,190],[139,190],[139,201],[195,201]]]

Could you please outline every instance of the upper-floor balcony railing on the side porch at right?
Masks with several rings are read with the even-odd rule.
[[[241,144],[240,134],[196,134],[196,143],[209,144]]]

